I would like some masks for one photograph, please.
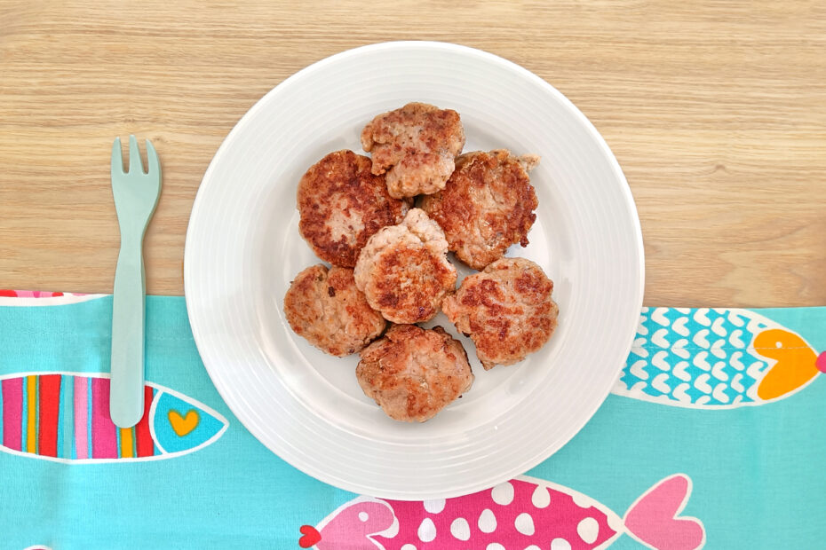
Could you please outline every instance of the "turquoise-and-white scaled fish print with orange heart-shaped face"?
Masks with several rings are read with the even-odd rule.
[[[799,334],[751,310],[643,308],[612,393],[725,409],[788,397],[826,373]]]

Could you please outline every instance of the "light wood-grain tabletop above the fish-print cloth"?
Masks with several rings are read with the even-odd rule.
[[[431,39],[592,120],[637,200],[647,304],[826,304],[826,4],[446,4],[0,1],[0,287],[111,291],[109,153],[134,133],[163,157],[147,291],[182,294],[190,208],[242,114],[332,53]]]

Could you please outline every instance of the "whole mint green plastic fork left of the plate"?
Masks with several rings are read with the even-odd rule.
[[[147,172],[140,161],[138,140],[129,137],[129,171],[123,171],[121,138],[112,145],[112,194],[121,251],[117,256],[112,297],[112,364],[109,415],[121,428],[137,424],[144,410],[144,348],[146,279],[143,238],[161,196],[161,163],[147,139]]]

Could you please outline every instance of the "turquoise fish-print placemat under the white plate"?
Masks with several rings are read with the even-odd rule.
[[[147,298],[147,411],[116,429],[111,308],[0,292],[0,549],[826,547],[826,308],[644,309],[570,444],[425,503],[339,491],[267,451],[212,386],[183,298]]]

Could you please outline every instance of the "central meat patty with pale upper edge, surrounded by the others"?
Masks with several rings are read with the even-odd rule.
[[[439,312],[456,287],[439,225],[412,208],[401,224],[370,238],[355,266],[355,283],[373,308],[393,323],[420,323]]]

